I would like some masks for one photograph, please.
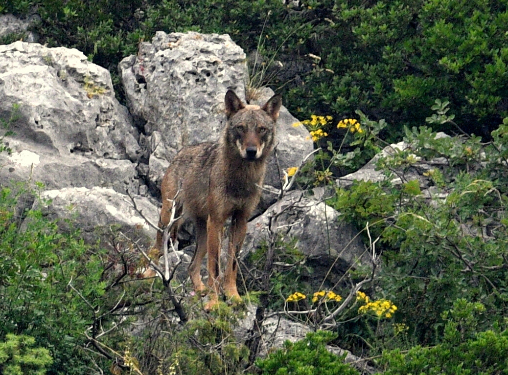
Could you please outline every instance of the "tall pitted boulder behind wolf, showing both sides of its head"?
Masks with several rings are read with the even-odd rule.
[[[169,160],[180,148],[218,140],[226,121],[228,89],[246,101],[245,53],[228,35],[158,31],[151,43],[140,44],[136,56],[120,62],[119,71],[130,111],[144,126],[146,137],[141,144],[153,186],[160,185]],[[263,91],[251,96],[264,102],[270,94]],[[291,126],[295,122],[298,120],[282,109],[277,137],[281,168],[298,164],[313,148],[308,132]],[[275,162],[266,182],[280,183]]]

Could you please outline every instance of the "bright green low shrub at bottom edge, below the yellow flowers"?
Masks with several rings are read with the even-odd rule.
[[[336,337],[331,332],[318,331],[296,343],[287,341],[283,349],[256,361],[263,375],[356,375],[359,372],[344,363],[344,357],[328,352],[326,344]],[[345,355],[344,355],[345,356]]]

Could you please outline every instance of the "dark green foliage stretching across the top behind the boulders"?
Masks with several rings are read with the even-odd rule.
[[[391,123],[384,137],[393,140],[403,125],[419,125],[436,97],[450,101],[466,131],[484,137],[508,115],[505,2],[299,3],[9,0],[0,11],[26,15],[35,9],[41,43],[77,48],[107,67],[120,97],[118,61],[135,54],[140,41],[156,30],[196,30],[229,33],[246,52],[259,48],[268,58],[277,52],[284,63],[296,61],[296,72],[270,83],[300,118],[341,118],[360,109]]]

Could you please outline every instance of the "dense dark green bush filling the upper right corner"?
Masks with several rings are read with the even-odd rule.
[[[319,38],[321,69],[291,91],[291,106],[335,116],[361,109],[392,123],[392,137],[428,116],[435,97],[480,135],[508,114],[505,3],[316,3],[330,20]]]

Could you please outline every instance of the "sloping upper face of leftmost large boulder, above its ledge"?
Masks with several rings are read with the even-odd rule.
[[[2,110],[19,106],[16,139],[51,150],[136,161],[138,133],[119,105],[109,72],[75,49],[0,46]]]

